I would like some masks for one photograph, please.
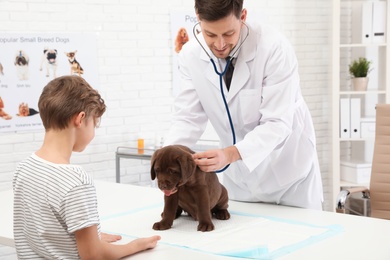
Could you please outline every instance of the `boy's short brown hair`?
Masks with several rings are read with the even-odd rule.
[[[50,81],[38,102],[39,114],[46,130],[62,130],[70,120],[84,111],[86,118],[100,118],[106,111],[104,100],[80,76],[62,76]]]

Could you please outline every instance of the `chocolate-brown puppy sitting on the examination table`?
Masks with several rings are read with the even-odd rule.
[[[157,178],[165,195],[162,220],[154,223],[155,230],[171,228],[183,210],[199,221],[198,231],[214,230],[212,215],[222,220],[230,218],[226,188],[215,172],[203,172],[197,167],[192,153],[186,146],[171,145],[152,156],[151,177]]]

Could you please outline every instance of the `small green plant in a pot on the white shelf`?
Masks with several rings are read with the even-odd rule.
[[[349,64],[349,73],[352,76],[353,89],[357,91],[367,90],[368,73],[371,71],[371,61],[364,57],[359,57]]]

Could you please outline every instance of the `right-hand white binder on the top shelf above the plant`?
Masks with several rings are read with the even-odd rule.
[[[372,42],[384,43],[386,32],[386,2],[372,3]]]

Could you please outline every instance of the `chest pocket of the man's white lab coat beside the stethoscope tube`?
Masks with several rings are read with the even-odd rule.
[[[243,89],[239,94],[239,111],[245,125],[260,121],[261,90]]]

